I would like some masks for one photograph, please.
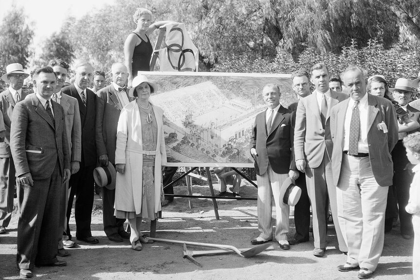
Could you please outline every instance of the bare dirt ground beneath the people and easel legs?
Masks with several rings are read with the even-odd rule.
[[[216,183],[215,180],[213,182]],[[217,183],[215,188],[218,188]],[[185,186],[174,187],[174,191],[176,194],[187,194]],[[256,197],[256,193],[255,187],[243,183],[240,190],[242,197]],[[208,186],[194,185],[193,194],[210,195],[210,190]],[[187,198],[175,198],[174,203],[163,208],[162,219],[157,222],[156,237],[251,247],[250,240],[258,236],[256,201],[218,200],[217,203],[220,220],[215,219],[209,199],[191,199],[190,209]],[[75,248],[69,249],[71,256],[58,257],[67,261],[67,266],[35,268],[35,279],[357,279],[357,271],[339,272],[336,268],[346,259],[337,249],[332,224],[328,227],[328,246],[322,258],[312,255],[311,237],[309,242],[291,246],[290,250],[282,250],[278,243],[273,243],[275,250],[247,259],[236,254],[196,257],[203,264],[203,267],[198,267],[182,257],[180,244],[143,244],[143,250],[137,252],[131,249],[128,240],[123,243],[109,241],[102,228],[101,204],[100,198],[95,196],[92,234],[99,243],[77,242]],[[19,279],[16,267],[17,223],[18,214],[15,213],[8,233],[0,235],[1,279]],[[75,229],[74,217],[71,228]],[[148,233],[150,222],[145,222],[143,228]],[[293,234],[291,208],[289,236]],[[191,250],[210,249],[188,247]],[[373,279],[412,279],[412,250],[413,240],[402,239],[399,229],[394,228],[387,233]]]

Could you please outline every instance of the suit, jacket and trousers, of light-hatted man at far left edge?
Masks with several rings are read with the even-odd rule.
[[[21,92],[21,100],[26,93]],[[13,109],[16,103],[9,89],[0,93],[0,111],[2,124],[0,130],[5,129],[4,142],[0,142],[0,226],[7,227],[12,218],[13,196],[15,192],[15,165],[10,153],[10,125]]]

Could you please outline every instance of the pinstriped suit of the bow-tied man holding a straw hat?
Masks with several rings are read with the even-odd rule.
[[[125,91],[122,91],[121,94],[125,94],[129,102],[134,100]],[[116,132],[123,105],[118,99],[114,84],[99,90],[96,95],[96,153],[98,156],[107,154],[110,163],[115,165]],[[118,219],[114,216],[115,189],[103,187],[101,194],[105,234],[110,236],[123,231],[125,219]]]

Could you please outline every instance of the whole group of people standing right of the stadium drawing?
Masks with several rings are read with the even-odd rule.
[[[250,141],[260,235],[251,243],[273,240],[274,198],[274,237],[280,248],[309,240],[311,207],[313,255],[322,257],[329,205],[339,249],[347,256],[338,270],[358,269],[358,278],[367,279],[378,265],[384,233],[398,215],[401,236],[414,235],[413,275],[419,279],[420,101],[409,102],[420,77],[400,78],[388,88],[383,76],[368,79],[363,68],[350,65],[334,80],[336,90],[330,88],[331,79],[324,64],[314,65],[310,74],[293,73],[299,101],[288,109],[280,103],[277,85],[262,90],[267,110],[256,116]],[[281,194],[288,178],[302,189],[295,205],[296,234],[289,240],[289,205]]]

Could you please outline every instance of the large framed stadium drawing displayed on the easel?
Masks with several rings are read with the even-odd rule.
[[[297,100],[290,75],[215,72],[139,72],[157,83],[150,100],[164,110],[168,166],[253,167],[249,139],[266,110],[262,89],[280,87],[281,103]]]

